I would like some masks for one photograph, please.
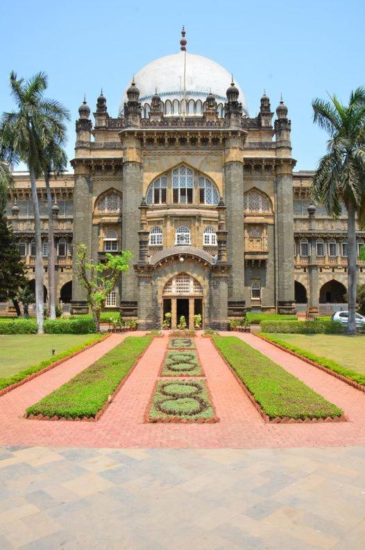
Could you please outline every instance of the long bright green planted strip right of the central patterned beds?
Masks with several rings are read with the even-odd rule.
[[[269,418],[326,418],[343,411],[241,339],[213,338],[223,357]]]

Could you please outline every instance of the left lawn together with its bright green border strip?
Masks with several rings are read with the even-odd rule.
[[[0,389],[99,341],[98,335],[0,335]],[[55,355],[52,355],[52,348]]]

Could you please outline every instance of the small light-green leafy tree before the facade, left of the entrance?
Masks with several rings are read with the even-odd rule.
[[[86,245],[78,245],[76,256],[76,276],[86,290],[95,327],[99,332],[100,314],[105,307],[106,298],[121,274],[128,271],[132,253],[129,250],[121,251],[119,254],[107,253],[105,262],[94,263],[87,260]]]

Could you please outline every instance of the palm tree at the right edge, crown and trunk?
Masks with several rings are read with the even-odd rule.
[[[365,218],[365,89],[350,94],[348,105],[337,96],[312,102],[314,122],[330,135],[313,179],[312,196],[338,218],[348,213],[348,334],[356,331],[356,216]]]

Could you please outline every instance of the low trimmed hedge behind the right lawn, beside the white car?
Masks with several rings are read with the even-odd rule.
[[[290,334],[342,334],[345,327],[339,321],[261,321],[262,332]]]

